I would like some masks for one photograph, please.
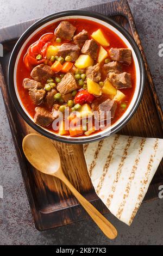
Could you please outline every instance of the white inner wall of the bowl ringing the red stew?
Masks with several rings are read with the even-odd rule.
[[[28,115],[28,117],[34,122],[33,118],[29,115],[29,113],[27,112],[26,108],[23,106],[23,103],[20,99],[20,95],[18,93],[18,90],[17,90],[17,83],[16,83],[16,71],[17,71],[17,64],[18,64],[18,60],[21,56],[21,53],[23,51],[23,48],[27,45],[28,41],[35,35],[35,33],[39,32],[42,28],[44,27],[47,27],[48,25],[51,25],[52,23],[54,22],[57,22],[57,21],[61,21],[61,20],[65,20],[65,19],[86,19],[86,20],[91,20],[91,21],[95,21],[107,28],[109,28],[111,31],[113,31],[114,33],[116,33],[123,41],[124,43],[127,45],[128,48],[131,49],[131,52],[133,54],[133,59],[134,59],[134,63],[135,63],[135,69],[136,69],[136,87],[135,87],[135,92],[134,92],[134,95],[133,95],[133,98],[131,99],[131,102],[130,102],[130,105],[128,106],[126,112],[124,112],[124,114],[122,115],[122,117],[120,119],[118,119],[116,121],[116,123],[114,123],[113,125],[111,125],[110,127],[108,127],[107,129],[101,131],[101,132],[98,132],[98,136],[103,136],[103,133],[105,133],[106,131],[109,133],[110,129],[113,129],[116,125],[120,124],[121,122],[123,122],[123,120],[126,119],[126,117],[128,116],[128,114],[130,113],[131,109],[133,108],[134,104],[135,104],[135,101],[137,99],[137,96],[138,96],[138,93],[139,93],[139,87],[140,87],[140,68],[139,68],[139,63],[138,63],[138,60],[137,60],[137,57],[136,57],[136,54],[135,54],[135,51],[133,49],[133,47],[131,46],[131,44],[129,43],[129,41],[124,37],[124,35],[118,31],[115,27],[111,26],[109,23],[106,23],[105,21],[102,21],[102,20],[98,20],[96,18],[93,18],[93,17],[88,17],[88,16],[80,16],[80,15],[75,15],[75,16],[65,16],[65,17],[60,17],[58,19],[54,19],[52,21],[49,21],[47,22],[46,24],[42,25],[41,27],[37,28],[29,37],[28,39],[24,42],[24,44],[22,45],[20,51],[18,52],[17,54],[17,58],[16,58],[16,62],[15,62],[15,67],[14,67],[14,87],[15,87],[15,92],[16,92],[16,96],[17,96],[17,99],[18,101],[20,102],[20,105],[21,107],[23,108],[24,112]],[[52,131],[49,131],[48,129],[46,129],[45,127],[42,127],[41,128],[49,133],[52,133],[54,134],[54,132]],[[57,133],[55,133],[55,136],[58,136],[58,137],[65,137],[67,138],[67,136],[60,136],[58,135]],[[93,135],[90,135],[89,138],[93,138],[97,136],[97,134],[93,134]],[[82,139],[82,138],[85,138],[85,136],[80,136],[79,139]],[[78,139],[78,137],[74,138],[74,139]],[[71,138],[71,141],[73,141],[73,138]]]

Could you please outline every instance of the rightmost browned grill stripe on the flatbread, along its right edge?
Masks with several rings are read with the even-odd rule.
[[[151,173],[151,168],[152,168],[152,164],[153,164],[153,161],[154,161],[154,157],[155,157],[156,151],[158,149],[158,141],[159,141],[159,139],[156,138],[155,139],[155,144],[154,144],[154,147],[153,147],[154,148],[154,154],[151,155],[151,157],[149,159],[147,170],[146,170],[146,173],[145,173],[145,178],[140,181],[140,183],[142,185],[140,187],[139,196],[137,197],[137,203],[135,205],[135,208],[134,208],[133,213],[131,214],[131,217],[130,217],[130,220],[129,220],[129,225],[132,223],[132,221],[133,221],[133,219],[136,215],[136,212],[137,212],[137,210],[139,209],[139,207],[141,205],[141,202],[142,202],[142,199],[143,199],[143,194],[144,194],[144,191],[145,191],[145,188],[146,188],[146,184],[148,183],[149,174]]]

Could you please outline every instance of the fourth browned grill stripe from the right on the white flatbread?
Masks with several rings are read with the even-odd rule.
[[[110,164],[110,161],[111,161],[112,156],[114,154],[114,150],[115,150],[116,144],[118,142],[118,138],[120,138],[120,135],[116,135],[115,136],[114,142],[111,145],[111,150],[109,152],[109,155],[108,155],[108,157],[106,159],[106,162],[105,162],[105,165],[104,165],[104,168],[103,168],[103,173],[101,175],[101,178],[100,178],[99,183],[98,183],[97,188],[96,188],[96,193],[97,194],[99,194],[99,192],[100,192],[100,190],[102,188],[103,181],[105,179],[106,173],[108,172],[109,164]]]

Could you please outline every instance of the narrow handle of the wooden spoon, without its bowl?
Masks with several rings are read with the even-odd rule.
[[[62,180],[74,196],[78,199],[79,203],[86,210],[87,214],[95,221],[98,227],[103,231],[103,233],[109,237],[109,239],[114,239],[117,236],[116,228],[108,221],[106,218],[89,202],[87,201],[77,190],[72,186],[70,181],[66,178],[63,172],[60,172],[58,178]]]

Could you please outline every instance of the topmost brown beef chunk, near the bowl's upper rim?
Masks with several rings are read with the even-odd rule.
[[[54,34],[59,38],[63,38],[70,41],[73,38],[75,31],[76,27],[74,27],[70,22],[62,21],[55,29]]]

